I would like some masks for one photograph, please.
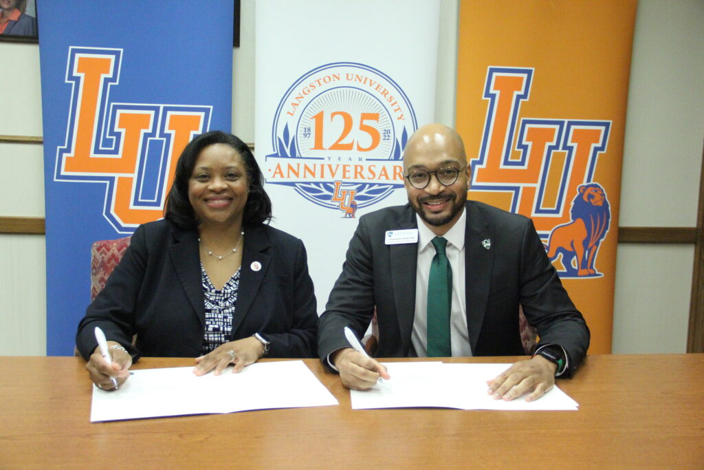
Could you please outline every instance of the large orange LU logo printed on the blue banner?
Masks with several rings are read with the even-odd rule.
[[[54,180],[103,183],[103,216],[118,233],[132,233],[162,216],[178,156],[193,135],[208,130],[212,106],[111,102],[122,54],[70,47],[71,106]]]

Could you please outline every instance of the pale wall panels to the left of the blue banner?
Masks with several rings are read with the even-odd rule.
[[[0,135],[42,135],[37,44],[0,42]],[[44,217],[42,146],[0,144],[0,216]],[[46,354],[44,235],[0,235],[0,355]]]

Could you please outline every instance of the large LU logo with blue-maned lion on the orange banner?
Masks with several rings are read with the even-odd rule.
[[[598,156],[607,149],[612,123],[520,117],[534,72],[533,68],[489,67],[482,143],[477,158],[470,161],[472,192],[503,193],[508,196],[504,209],[532,218],[543,244],[550,247],[548,254],[560,277],[601,276],[594,261],[608,233],[610,212],[606,192],[593,177]],[[592,203],[603,199],[605,204],[596,207],[606,214],[577,214],[574,204],[585,197]],[[579,246],[570,248],[572,242]]]

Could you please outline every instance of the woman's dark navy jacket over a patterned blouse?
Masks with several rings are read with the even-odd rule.
[[[268,357],[315,357],[317,321],[303,242],[268,225],[246,227],[230,340],[261,333],[271,342]],[[85,358],[97,345],[95,326],[137,358],[200,356],[205,305],[198,233],[165,220],[137,228],[80,322],[76,344]]]

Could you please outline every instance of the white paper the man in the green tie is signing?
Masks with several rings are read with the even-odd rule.
[[[351,390],[353,409],[441,407],[458,409],[576,410],[577,402],[558,387],[535,400],[518,397],[494,400],[486,381],[511,364],[443,364],[403,362],[384,364],[391,379],[363,392]]]

